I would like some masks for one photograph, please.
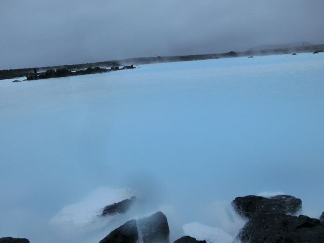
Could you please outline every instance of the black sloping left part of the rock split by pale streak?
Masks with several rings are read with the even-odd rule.
[[[99,243],[137,243],[138,239],[136,220],[130,220],[112,231]]]

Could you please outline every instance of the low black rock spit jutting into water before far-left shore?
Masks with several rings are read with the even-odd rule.
[[[133,69],[136,68],[134,65],[124,66],[119,68],[119,66],[112,66],[110,69],[107,68],[100,68],[100,67],[88,67],[85,70],[77,70],[71,71],[66,68],[59,68],[54,71],[53,69],[49,69],[42,74],[34,73],[32,75],[26,76],[26,80],[37,80],[37,79],[46,79],[46,78],[59,78],[59,77],[68,77],[68,76],[76,76],[76,75],[85,75],[85,74],[94,74],[94,73],[104,73],[104,72],[111,72],[111,71],[118,71],[118,70],[125,70],[125,69]]]

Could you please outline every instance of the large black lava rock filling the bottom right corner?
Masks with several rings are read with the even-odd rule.
[[[261,213],[246,223],[238,237],[255,243],[324,243],[324,226],[304,215]]]

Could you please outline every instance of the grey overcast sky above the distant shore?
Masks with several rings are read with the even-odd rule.
[[[0,69],[324,43],[324,0],[0,0]]]

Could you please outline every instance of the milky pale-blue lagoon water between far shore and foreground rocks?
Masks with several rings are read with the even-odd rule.
[[[141,214],[169,205],[174,237],[190,222],[220,227],[206,208],[237,196],[283,192],[324,211],[322,53],[11,81],[0,81],[0,237],[55,242],[50,220],[99,187],[135,190]]]

